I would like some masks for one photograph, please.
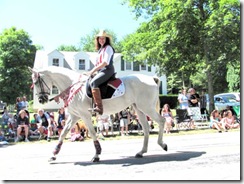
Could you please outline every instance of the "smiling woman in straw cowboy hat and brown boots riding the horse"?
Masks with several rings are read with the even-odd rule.
[[[99,85],[106,82],[114,74],[113,56],[114,48],[111,46],[111,37],[104,30],[101,30],[95,37],[95,47],[98,51],[94,68],[87,73],[92,76],[90,85],[94,98],[95,107],[88,110],[103,114],[103,104]]]

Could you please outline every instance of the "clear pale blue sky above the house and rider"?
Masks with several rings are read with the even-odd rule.
[[[33,44],[54,50],[78,46],[94,29],[109,29],[121,40],[140,26],[122,0],[0,0],[0,33],[12,26],[26,31]],[[142,21],[141,21],[142,22]]]

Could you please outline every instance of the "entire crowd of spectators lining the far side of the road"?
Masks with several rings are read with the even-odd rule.
[[[208,113],[206,109],[206,96],[203,91],[198,95],[194,88],[188,90],[182,89],[178,95],[180,109],[188,109],[190,107],[199,107],[201,113]],[[39,140],[45,139],[51,141],[52,136],[60,136],[61,131],[66,124],[68,113],[64,107],[57,111],[57,117],[54,112],[48,112],[44,109],[38,109],[36,113],[30,117],[29,103],[26,96],[16,98],[16,114],[8,112],[7,107],[4,107],[1,118],[0,141],[6,141],[4,135],[15,137],[15,142],[24,140],[29,142],[29,136],[38,136]],[[165,133],[169,134],[175,126],[174,116],[170,106],[164,104],[160,111],[165,117]],[[236,114],[231,107],[226,107],[225,110],[219,112],[213,110],[209,115],[210,128],[216,129],[219,133],[227,132],[232,128],[239,128],[240,124],[236,121]],[[150,128],[153,129],[153,121],[147,117]],[[109,136],[109,129],[113,129],[117,123],[121,136],[128,136],[131,130],[140,129],[140,122],[132,107],[114,114],[114,115],[97,115],[95,117],[97,133],[103,137]],[[136,122],[136,123],[135,123]],[[192,125],[194,127],[194,124]],[[77,122],[71,129],[71,141],[81,141],[88,137],[88,130],[84,122]]]

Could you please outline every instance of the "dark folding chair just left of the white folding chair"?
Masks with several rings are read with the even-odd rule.
[[[187,109],[176,109],[176,127],[180,129],[190,129],[193,119],[188,115]]]

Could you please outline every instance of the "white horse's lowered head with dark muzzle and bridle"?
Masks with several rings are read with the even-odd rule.
[[[43,75],[39,73],[37,70],[29,68],[32,72],[32,82],[33,87],[35,87],[38,95],[38,101],[41,104],[48,102],[48,96],[50,95],[50,88],[47,86],[46,82],[43,80]]]

